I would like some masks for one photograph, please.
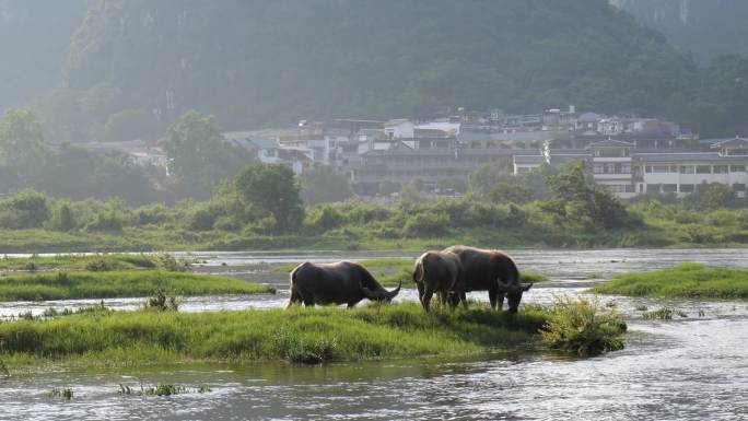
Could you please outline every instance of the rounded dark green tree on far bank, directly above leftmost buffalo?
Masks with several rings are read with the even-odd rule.
[[[276,220],[276,231],[289,233],[304,220],[299,186],[293,172],[280,164],[250,164],[236,177],[236,189],[247,206]]]

